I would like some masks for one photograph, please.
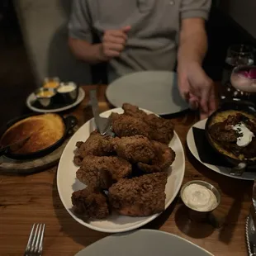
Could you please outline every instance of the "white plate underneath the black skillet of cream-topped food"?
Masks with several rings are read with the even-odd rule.
[[[207,121],[207,119],[198,121],[192,127],[205,129],[206,121]],[[237,177],[237,176],[230,175],[230,168],[217,166],[217,165],[212,165],[212,164],[206,164],[206,163],[201,162],[201,159],[200,159],[198,151],[197,151],[197,146],[195,144],[192,127],[190,128],[190,130],[188,130],[188,133],[187,133],[187,146],[188,146],[188,149],[190,150],[190,152],[192,153],[192,155],[201,164],[205,165],[207,168],[210,168],[211,170],[215,171],[216,173],[220,173],[220,174],[223,174],[223,175],[231,177],[231,178],[238,178],[238,179],[244,179],[244,180],[254,180],[254,178],[256,178],[256,173],[244,172],[242,176]]]

